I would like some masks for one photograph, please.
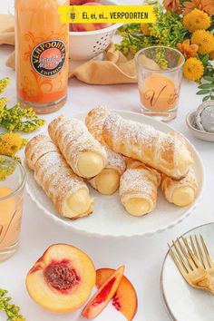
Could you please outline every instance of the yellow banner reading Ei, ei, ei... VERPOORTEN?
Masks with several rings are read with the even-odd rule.
[[[63,24],[152,24],[153,5],[60,5]]]

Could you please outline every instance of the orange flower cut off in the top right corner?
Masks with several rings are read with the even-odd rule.
[[[213,0],[191,0],[183,3],[185,7],[183,15],[189,14],[193,9],[205,11],[209,15],[214,15],[214,1]]]

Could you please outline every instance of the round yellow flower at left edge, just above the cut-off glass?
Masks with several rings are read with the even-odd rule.
[[[0,136],[0,154],[15,156],[15,153],[24,146],[25,140],[18,133],[8,132]]]

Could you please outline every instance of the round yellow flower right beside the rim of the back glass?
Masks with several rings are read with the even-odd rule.
[[[199,61],[197,58],[189,58],[184,63],[183,66],[183,74],[185,78],[190,79],[192,81],[198,81],[204,73],[203,63]]]

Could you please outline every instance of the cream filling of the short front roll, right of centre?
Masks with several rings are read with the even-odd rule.
[[[133,198],[124,202],[125,209],[134,216],[141,216],[149,213],[150,204],[146,199]]]

